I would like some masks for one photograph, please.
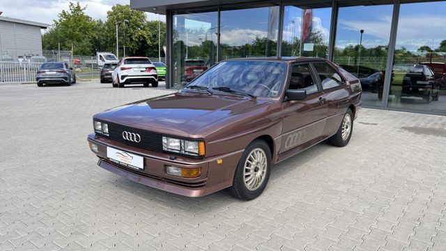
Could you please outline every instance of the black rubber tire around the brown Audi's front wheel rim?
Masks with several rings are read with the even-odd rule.
[[[261,149],[266,155],[266,172],[265,172],[265,178],[263,178],[263,181],[261,181],[258,188],[255,190],[249,190],[247,188],[247,185],[245,185],[245,178],[243,171],[245,169],[245,162],[247,162],[247,158],[249,158],[250,153],[256,149]],[[257,169],[257,167],[256,167]],[[259,169],[260,170],[260,169]],[[231,188],[229,188],[229,193],[238,199],[245,199],[245,200],[251,200],[255,199],[256,197],[259,197],[263,190],[265,190],[266,185],[268,184],[268,180],[270,179],[270,172],[271,172],[271,151],[270,146],[263,141],[262,139],[256,139],[254,142],[251,142],[245,149],[245,152],[243,152],[242,157],[240,158],[240,161],[238,162],[236,173],[234,174],[234,179]],[[255,174],[252,174],[255,176]]]

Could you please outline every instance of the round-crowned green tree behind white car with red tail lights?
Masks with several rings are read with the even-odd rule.
[[[123,55],[121,50],[123,46],[125,46],[125,54],[134,55],[139,52],[144,43],[153,45],[150,38],[157,36],[153,33],[157,33],[158,30],[151,31],[147,28],[147,17],[143,11],[132,10],[129,5],[116,4],[107,12],[107,22],[105,22],[107,34],[113,38],[116,38],[116,22],[121,22],[118,24],[119,54]],[[116,40],[113,45],[116,48]]]

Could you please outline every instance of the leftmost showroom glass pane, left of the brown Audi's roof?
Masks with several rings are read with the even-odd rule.
[[[215,64],[217,12],[174,15],[173,87],[181,88]]]

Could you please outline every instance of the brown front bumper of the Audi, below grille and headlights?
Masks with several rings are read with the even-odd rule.
[[[172,160],[173,155],[137,149],[95,134],[89,135],[88,141],[98,146],[98,152],[93,153],[98,156],[98,165],[103,169],[137,183],[187,197],[201,197],[231,186],[236,165],[243,154],[242,150],[213,158],[191,159],[176,156],[177,158]],[[132,169],[112,162],[107,158],[107,146],[142,156],[144,169]],[[217,160],[222,160],[223,165],[218,164]],[[172,176],[166,173],[167,165],[180,168],[201,167],[201,176]]]

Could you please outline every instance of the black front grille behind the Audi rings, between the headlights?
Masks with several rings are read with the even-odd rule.
[[[141,130],[138,128],[131,128],[128,126],[118,125],[116,123],[109,123],[107,121],[103,121],[109,126],[109,136],[100,135],[102,137],[107,137],[116,142],[121,142],[128,146],[134,146],[139,149],[146,149],[150,151],[162,152],[162,134],[157,132],[151,132],[147,130]],[[126,139],[123,139],[123,131],[137,133],[141,136],[141,142],[130,142]]]

